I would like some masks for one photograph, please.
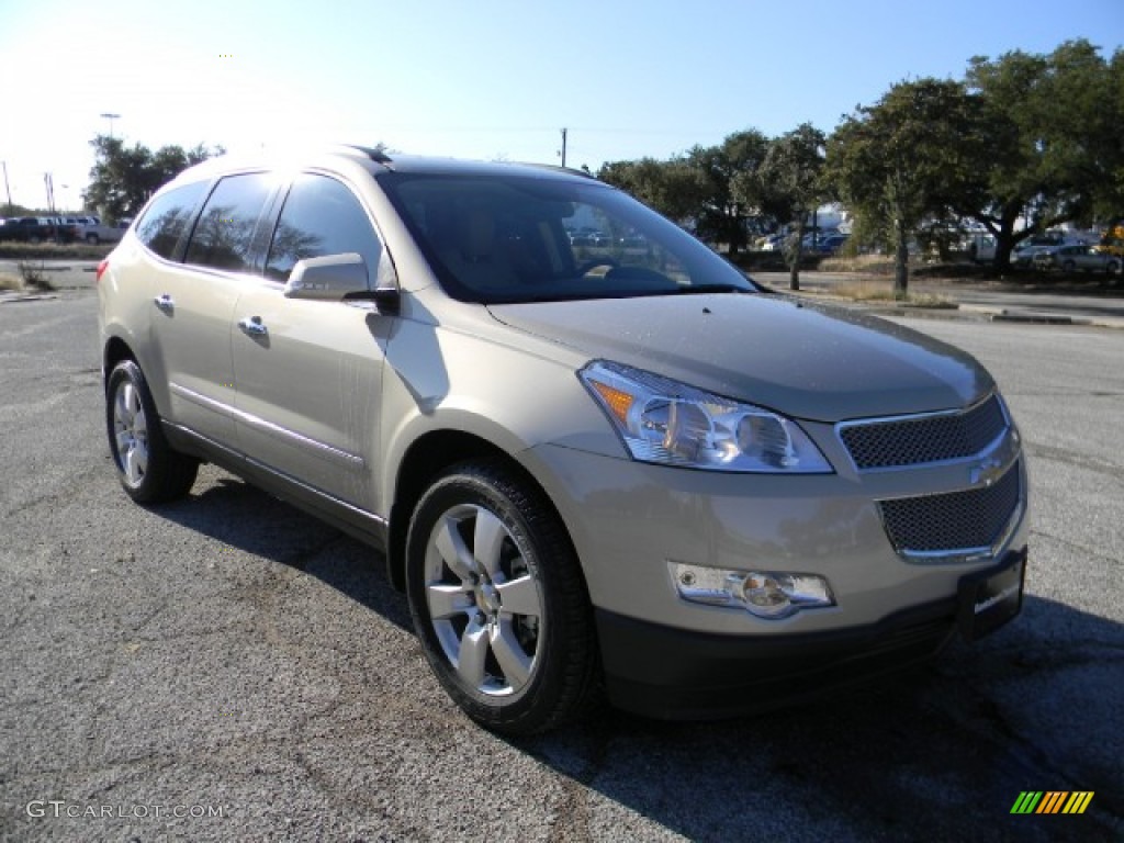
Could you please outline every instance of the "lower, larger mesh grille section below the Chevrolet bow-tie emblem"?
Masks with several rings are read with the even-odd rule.
[[[1016,461],[989,487],[946,495],[883,500],[886,534],[901,553],[990,547],[1003,536],[1022,497]]]

